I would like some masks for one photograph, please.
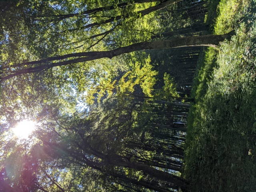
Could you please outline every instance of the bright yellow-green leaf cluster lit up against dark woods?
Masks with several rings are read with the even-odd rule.
[[[144,60],[144,63],[135,61],[133,69],[126,72],[119,81],[106,77],[101,80],[99,85],[88,88],[86,102],[93,104],[95,98],[100,102],[104,96],[126,96],[133,94],[136,86],[140,86],[145,96],[152,97],[154,85],[156,84],[155,76],[158,72],[152,70],[150,57]],[[130,64],[132,66],[132,63]],[[97,95],[97,96],[96,96]]]

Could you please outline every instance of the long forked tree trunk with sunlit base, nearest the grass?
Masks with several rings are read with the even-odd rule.
[[[130,53],[130,52],[139,51],[139,50],[169,49],[169,48],[180,48],[180,47],[189,47],[189,46],[210,46],[210,47],[216,48],[219,42],[225,39],[230,39],[232,34],[234,34],[234,31],[228,34],[223,34],[223,35],[191,36],[191,37],[184,37],[184,38],[175,38],[175,39],[166,40],[166,41],[140,42],[140,43],[132,44],[125,47],[116,48],[110,51],[80,52],[80,53],[66,54],[63,56],[50,57],[44,60],[21,63],[21,64],[18,64],[18,66],[21,67],[24,65],[42,64],[49,61],[62,60],[62,59],[67,59],[72,57],[80,57],[80,58],[70,59],[62,62],[44,64],[36,67],[21,69],[18,71],[11,71],[10,74],[6,76],[2,76],[0,80],[1,81],[6,80],[20,74],[40,72],[42,70],[52,68],[55,66],[75,64],[79,62],[86,62],[86,61],[96,60],[100,58],[111,59],[115,56],[119,56],[124,53]]]

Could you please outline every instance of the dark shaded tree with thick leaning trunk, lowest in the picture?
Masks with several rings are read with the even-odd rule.
[[[136,126],[133,119],[132,111],[135,105],[123,101],[107,100],[98,110],[91,111],[87,119],[74,117],[75,120],[69,120],[63,126],[55,125],[56,134],[53,133],[50,137],[39,134],[43,150],[52,158],[65,159],[70,164],[96,169],[118,179],[119,182],[124,180],[160,191],[168,188],[170,188],[168,190],[178,189],[178,187],[185,190],[187,186],[182,178],[159,170],[161,166],[156,163],[158,158],[152,150],[153,153],[150,154],[149,148],[139,149],[142,140],[142,143],[137,142],[134,146],[144,128],[140,129]],[[145,150],[149,153],[147,154]],[[151,156],[156,157],[150,160]],[[156,169],[152,166],[160,167]],[[132,172],[138,171],[141,172],[141,178],[132,178],[134,177]],[[150,184],[149,178],[156,180],[156,183]],[[158,185],[159,182],[165,185],[161,187]]]

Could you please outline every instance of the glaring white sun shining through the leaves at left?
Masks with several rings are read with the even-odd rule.
[[[20,139],[26,139],[32,131],[35,130],[36,122],[32,120],[23,120],[19,122],[13,129],[14,135]]]

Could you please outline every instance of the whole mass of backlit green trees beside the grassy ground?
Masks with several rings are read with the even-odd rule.
[[[187,191],[188,74],[234,34],[208,34],[206,2],[1,1],[0,191]],[[158,70],[162,49],[182,86]]]

